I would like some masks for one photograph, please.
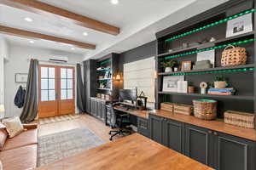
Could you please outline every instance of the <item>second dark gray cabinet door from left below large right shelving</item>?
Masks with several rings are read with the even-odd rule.
[[[183,123],[165,119],[164,144],[180,153],[183,153]]]

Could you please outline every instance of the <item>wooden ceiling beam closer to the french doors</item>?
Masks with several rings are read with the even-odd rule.
[[[61,37],[54,37],[54,36],[49,36],[49,35],[41,34],[37,32],[20,30],[20,29],[8,27],[8,26],[0,25],[0,32],[9,34],[9,35],[15,35],[18,37],[30,37],[30,38],[39,38],[39,39],[49,40],[53,42],[63,42],[67,44],[72,44],[78,48],[96,49],[96,45],[93,45],[90,43],[77,42],[77,41],[73,41],[73,40],[69,40]]]

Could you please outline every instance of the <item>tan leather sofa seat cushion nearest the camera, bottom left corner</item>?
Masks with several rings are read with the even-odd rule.
[[[0,152],[4,170],[32,169],[37,166],[38,144]]]

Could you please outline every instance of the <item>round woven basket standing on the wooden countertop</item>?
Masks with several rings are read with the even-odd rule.
[[[194,99],[194,116],[203,120],[212,120],[217,116],[217,101],[213,99]]]

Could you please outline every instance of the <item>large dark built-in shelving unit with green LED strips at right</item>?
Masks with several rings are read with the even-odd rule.
[[[173,102],[192,105],[193,99],[216,99],[218,101],[218,118],[224,117],[224,111],[245,111],[253,114],[256,108],[254,95],[255,82],[255,31],[250,31],[234,37],[226,37],[228,20],[232,20],[244,14],[252,14],[255,18],[253,1],[230,2],[227,8],[218,8],[196,15],[189,20],[166,28],[156,33],[157,55],[155,57],[157,81],[156,81],[156,108],[160,109],[161,102]],[[236,4],[237,3],[237,4]],[[243,5],[241,5],[241,3]],[[234,8],[230,8],[234,7]],[[252,19],[252,20],[253,20]],[[214,37],[216,40],[207,42]],[[199,43],[194,43],[199,42]],[[195,44],[182,48],[183,43]],[[247,64],[224,67],[221,65],[221,56],[224,48],[229,45],[247,49]],[[198,53],[215,50],[214,68],[165,72],[160,63],[176,60],[178,65],[182,61],[196,61]],[[234,95],[201,94],[200,82],[213,82],[214,77],[224,75],[230,86],[236,88]],[[192,82],[196,88],[194,94],[165,92],[162,90],[163,78],[170,76],[184,76],[188,82]],[[255,126],[256,127],[256,126]]]

